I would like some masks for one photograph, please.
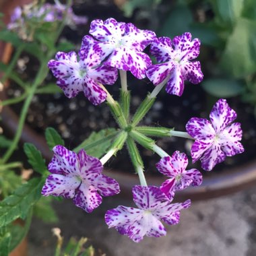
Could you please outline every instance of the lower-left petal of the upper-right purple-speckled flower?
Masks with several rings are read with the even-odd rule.
[[[172,73],[174,63],[169,61],[167,63],[151,65],[146,71],[146,75],[150,81],[157,86]]]

